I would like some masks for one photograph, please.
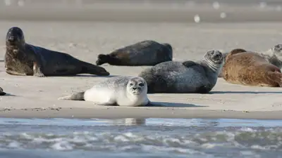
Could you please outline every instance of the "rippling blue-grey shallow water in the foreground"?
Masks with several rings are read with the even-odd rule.
[[[279,120],[0,118],[0,158],[281,155]]]

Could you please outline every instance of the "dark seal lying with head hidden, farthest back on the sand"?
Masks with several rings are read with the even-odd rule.
[[[152,66],[171,61],[173,48],[170,44],[159,44],[157,41],[140,41],[130,46],[116,49],[109,54],[99,54],[97,65],[109,63],[120,66]]]

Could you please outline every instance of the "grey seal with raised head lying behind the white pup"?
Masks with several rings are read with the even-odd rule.
[[[209,93],[216,84],[222,61],[220,51],[207,51],[197,62],[161,62],[138,76],[147,81],[147,93]]]

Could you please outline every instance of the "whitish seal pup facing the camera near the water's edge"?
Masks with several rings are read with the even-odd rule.
[[[149,104],[147,83],[141,77],[111,77],[92,88],[59,100],[85,100],[97,105],[145,106]]]

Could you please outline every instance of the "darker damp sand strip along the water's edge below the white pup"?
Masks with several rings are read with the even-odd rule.
[[[92,107],[92,108],[29,108],[0,110],[0,118],[21,119],[258,119],[281,120],[282,111],[240,112],[226,110],[189,110],[173,107]]]

